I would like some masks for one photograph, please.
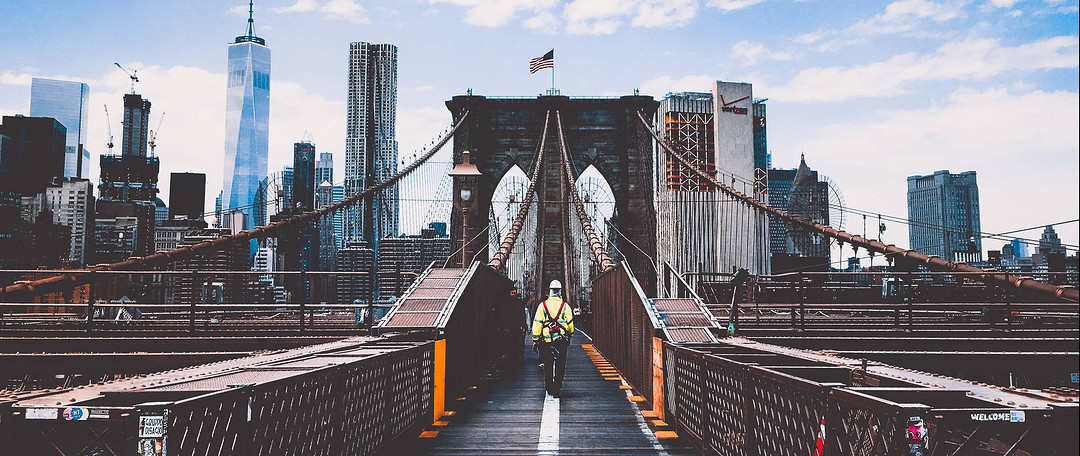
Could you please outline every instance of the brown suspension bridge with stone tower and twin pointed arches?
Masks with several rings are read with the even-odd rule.
[[[658,132],[650,96],[446,106],[444,135],[339,203],[120,263],[0,271],[3,453],[1080,452],[1075,272],[982,269],[773,207]],[[451,253],[415,276],[212,261],[424,185],[447,146]],[[717,201],[719,240],[701,243],[724,271],[658,260],[671,249],[658,230],[680,227],[658,216],[679,203],[652,200],[654,163]],[[891,268],[771,274],[770,220]],[[208,292],[268,274],[300,293]],[[323,286],[380,277],[395,278],[392,300]],[[559,398],[525,331],[552,280],[581,328]],[[131,298],[152,283],[198,292]]]

